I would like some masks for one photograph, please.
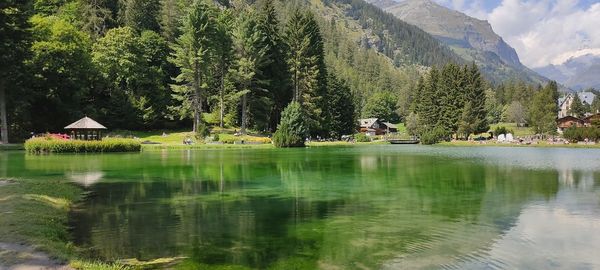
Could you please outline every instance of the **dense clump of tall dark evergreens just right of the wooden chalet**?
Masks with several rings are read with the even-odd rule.
[[[452,135],[468,139],[489,129],[485,107],[485,81],[474,64],[434,67],[415,88],[411,133],[424,143],[447,140]]]

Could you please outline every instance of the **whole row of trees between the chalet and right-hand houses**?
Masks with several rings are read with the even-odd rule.
[[[475,64],[433,67],[414,88],[414,99],[406,126],[424,143],[489,131],[500,121],[531,126],[537,134],[556,130],[558,85],[545,87],[509,82],[495,90]]]

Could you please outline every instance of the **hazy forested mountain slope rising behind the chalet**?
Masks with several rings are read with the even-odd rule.
[[[298,3],[320,21],[328,69],[346,81],[357,107],[387,93],[407,115],[414,84],[427,67],[462,59],[439,40],[363,0],[277,2],[282,17]]]

